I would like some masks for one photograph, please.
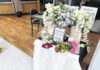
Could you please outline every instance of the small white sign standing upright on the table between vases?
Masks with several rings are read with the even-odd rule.
[[[64,40],[64,35],[65,35],[66,29],[63,28],[55,28],[54,32],[54,41],[63,41]]]

